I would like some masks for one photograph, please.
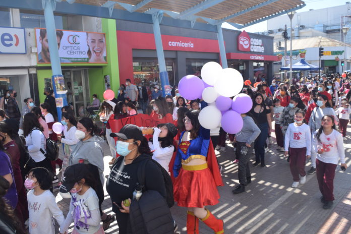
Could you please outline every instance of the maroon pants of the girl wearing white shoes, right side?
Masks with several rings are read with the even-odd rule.
[[[296,182],[300,181],[300,176],[306,175],[305,163],[306,163],[306,147],[304,148],[289,148],[290,155],[290,171],[292,179]]]

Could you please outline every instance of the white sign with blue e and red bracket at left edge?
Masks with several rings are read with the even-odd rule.
[[[24,28],[0,27],[0,54],[26,53]]]

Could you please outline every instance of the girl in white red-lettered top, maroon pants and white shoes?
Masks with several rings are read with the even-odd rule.
[[[298,109],[295,112],[295,123],[289,124],[285,133],[285,156],[290,155],[290,171],[292,174],[292,188],[306,183],[305,163],[311,156],[311,131],[304,124],[305,111]],[[299,176],[300,175],[300,176]]]

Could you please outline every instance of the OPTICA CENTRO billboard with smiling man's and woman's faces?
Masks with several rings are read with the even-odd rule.
[[[50,63],[46,29],[36,28],[38,64]],[[61,63],[106,64],[104,33],[56,30]]]

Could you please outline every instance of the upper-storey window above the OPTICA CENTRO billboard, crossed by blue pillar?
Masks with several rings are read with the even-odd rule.
[[[20,11],[21,27],[22,28],[45,28],[44,15],[25,13]],[[54,16],[55,28],[63,29],[63,17]]]

